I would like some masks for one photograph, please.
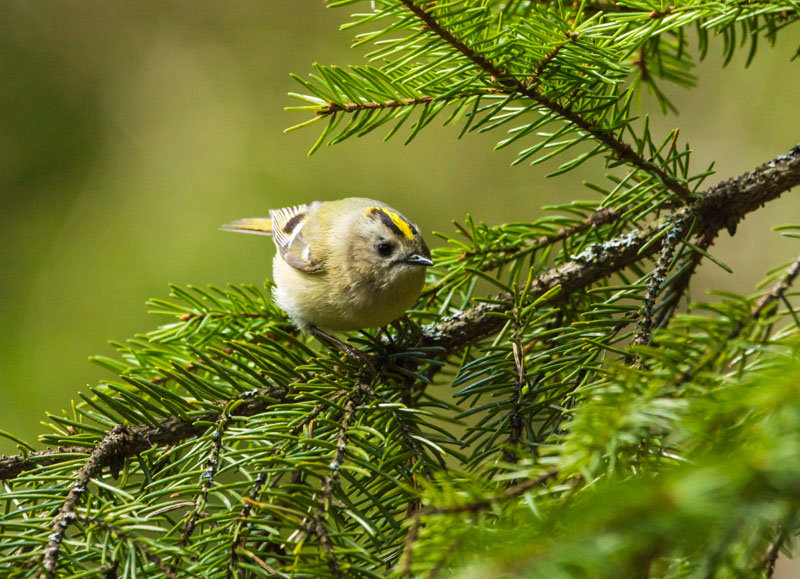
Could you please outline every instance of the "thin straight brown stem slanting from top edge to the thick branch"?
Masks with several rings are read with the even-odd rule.
[[[624,142],[621,138],[615,136],[612,131],[598,127],[594,123],[588,121],[570,109],[568,106],[562,105],[536,91],[535,86],[528,86],[526,82],[509,75],[507,71],[500,69],[490,60],[478,54],[464,42],[456,38],[452,32],[441,26],[430,13],[426,12],[422,6],[416,4],[414,0],[399,1],[411,12],[413,12],[414,15],[419,18],[419,20],[421,20],[429,30],[431,30],[431,32],[439,36],[442,40],[447,42],[455,50],[460,52],[464,57],[480,68],[490,77],[493,83],[499,84],[501,90],[511,91],[513,93],[518,93],[528,97],[552,113],[580,128],[582,131],[592,135],[592,137],[594,137],[597,141],[601,142],[608,149],[614,151],[617,159],[620,161],[630,163],[645,173],[658,178],[667,189],[677,195],[684,203],[689,203],[691,201],[692,193],[686,188],[685,185],[681,184],[674,177],[668,175],[662,168],[647,161],[644,157],[634,151],[629,144]]]

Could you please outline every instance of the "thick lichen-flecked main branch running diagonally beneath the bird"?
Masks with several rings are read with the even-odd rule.
[[[586,255],[575,256],[573,261],[549,270],[536,278],[531,286],[533,295],[542,295],[556,286],[561,287],[561,295],[579,291],[595,281],[614,272],[621,271],[630,264],[658,251],[658,244],[646,244],[667,223],[673,226],[682,224],[688,229],[693,219],[697,220],[695,232],[701,238],[716,235],[727,229],[735,231],[736,224],[745,215],[764,203],[776,199],[783,192],[800,184],[800,146],[753,171],[723,181],[701,194],[691,208],[682,208],[656,224],[635,230],[602,244],[595,244]],[[642,248],[645,248],[642,250]],[[503,325],[494,314],[510,307],[511,296],[499,296],[499,303],[481,303],[445,318],[424,329],[422,346],[439,347],[447,354],[487,338]],[[505,305],[503,305],[505,304]],[[263,395],[281,400],[287,390],[282,387],[267,388]],[[266,410],[270,405],[265,399],[250,400],[238,406],[233,415],[249,416]],[[218,414],[202,415],[199,420],[214,421]],[[151,446],[169,446],[197,436],[205,431],[194,421],[171,417],[158,425],[139,425],[127,427],[128,433],[115,453],[103,458],[101,467],[124,461]],[[12,479],[21,472],[73,460],[75,453],[85,453],[80,447],[67,447],[48,451],[38,451],[15,456],[0,457],[0,480]],[[105,455],[104,455],[105,456]],[[90,457],[91,459],[91,457]],[[115,462],[116,461],[116,462]]]

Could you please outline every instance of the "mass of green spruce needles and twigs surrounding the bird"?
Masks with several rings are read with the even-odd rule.
[[[798,4],[331,4],[358,6],[375,51],[298,77],[318,144],[434,120],[506,130],[499,147],[557,160],[553,176],[602,160],[600,200],[458,224],[410,319],[350,338],[373,370],[298,335],[269,286],[173,287],[151,302],[172,322],[98,357],[118,378],[50,415],[41,441],[60,450],[20,443],[0,465],[0,566],[771,574],[798,524],[800,265],[680,313],[702,260],[728,267],[712,244],[750,209],[711,219],[710,168],[631,105],[647,86],[671,110],[663,85],[691,87],[712,35],[754,53]]]

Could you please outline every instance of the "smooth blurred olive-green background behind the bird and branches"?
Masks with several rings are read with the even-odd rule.
[[[0,1],[0,429],[35,441],[45,411],[105,375],[90,354],[160,323],[144,302],[168,283],[260,284],[272,245],[218,231],[232,219],[357,194],[450,231],[594,198],[581,180],[601,182],[599,165],[545,180],[552,165],[492,152],[500,133],[431,126],[407,147],[373,134],[307,158],[321,125],[282,133],[307,118],[283,110],[289,73],[359,62],[347,16],[322,0]],[[800,141],[796,40],[764,43],[749,69],[746,51],[723,69],[717,41],[696,90],[666,89],[680,117],[643,109],[681,127],[696,167],[717,161],[709,183],[749,170]],[[693,296],[747,293],[796,254],[770,226],[800,222],[798,194],[724,234],[715,253],[736,274],[705,266]]]

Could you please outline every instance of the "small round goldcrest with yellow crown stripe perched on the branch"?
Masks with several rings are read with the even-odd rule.
[[[385,326],[414,304],[433,265],[419,228],[373,199],[274,209],[223,229],[272,236],[275,302],[304,331]]]

